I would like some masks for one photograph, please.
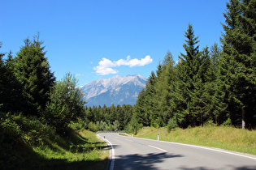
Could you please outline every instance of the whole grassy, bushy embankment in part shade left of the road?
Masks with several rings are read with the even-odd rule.
[[[88,130],[59,135],[49,125],[22,116],[0,115],[1,169],[104,169],[106,143]]]

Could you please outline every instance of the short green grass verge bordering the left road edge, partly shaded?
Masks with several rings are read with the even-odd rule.
[[[95,133],[87,130],[73,131],[69,137],[73,142],[64,139],[66,141],[63,143],[49,141],[46,146],[33,147],[33,151],[44,158],[41,168],[105,168],[108,151],[102,151],[106,145],[96,138]]]

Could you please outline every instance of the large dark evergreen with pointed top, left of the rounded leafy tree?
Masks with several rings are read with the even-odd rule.
[[[50,97],[50,87],[54,85],[54,74],[47,62],[45,47],[39,35],[31,42],[24,40],[25,45],[15,57],[15,76],[22,85],[25,102],[24,115],[41,116]]]

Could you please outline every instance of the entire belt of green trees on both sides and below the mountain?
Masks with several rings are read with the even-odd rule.
[[[142,126],[171,130],[206,123],[255,128],[255,6],[255,0],[227,3],[220,45],[200,47],[189,23],[185,53],[175,63],[167,52],[134,106],[85,107],[72,74],[55,80],[39,34],[26,39],[15,57],[11,52],[0,54],[0,129],[6,128],[3,117],[8,115],[37,118],[59,133],[69,125],[128,132]]]

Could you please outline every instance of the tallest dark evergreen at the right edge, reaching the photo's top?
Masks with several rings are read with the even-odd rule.
[[[219,84],[225,86],[230,117],[241,119],[243,129],[246,121],[256,125],[255,9],[255,0],[230,0],[224,13]]]

